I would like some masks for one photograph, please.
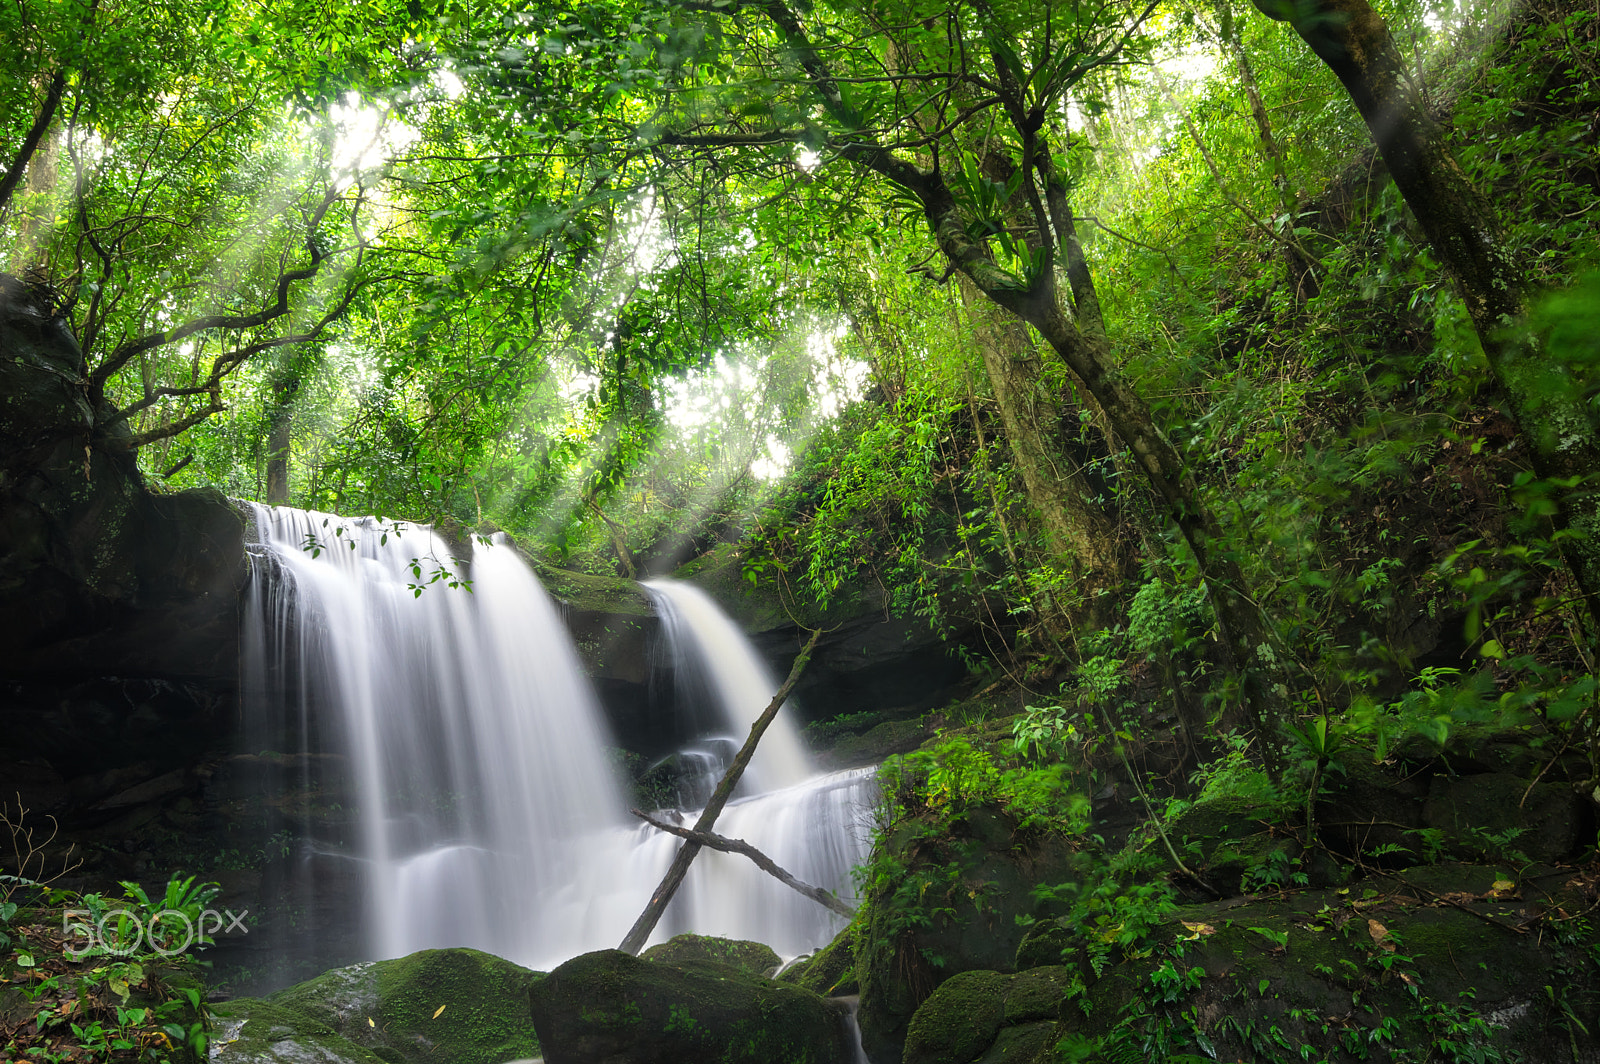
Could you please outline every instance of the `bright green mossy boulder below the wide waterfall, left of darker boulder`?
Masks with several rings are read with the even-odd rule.
[[[266,998],[219,1005],[214,1059],[506,1064],[538,1056],[528,989],[539,978],[475,949],[334,968]]]

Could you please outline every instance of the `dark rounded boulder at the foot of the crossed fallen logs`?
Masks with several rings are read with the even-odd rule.
[[[845,1006],[723,963],[608,949],[530,992],[549,1064],[848,1064]]]

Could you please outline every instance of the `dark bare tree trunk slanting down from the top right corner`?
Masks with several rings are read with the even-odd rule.
[[[1533,453],[1534,472],[1576,482],[1600,469],[1600,440],[1582,392],[1566,366],[1546,358],[1528,334],[1523,277],[1506,250],[1494,208],[1451,157],[1389,26],[1366,0],[1254,3],[1267,18],[1288,21],[1350,94],[1434,254],[1461,286],[1483,354]],[[1597,507],[1597,499],[1563,499],[1557,525],[1578,534],[1563,554],[1600,629]]]

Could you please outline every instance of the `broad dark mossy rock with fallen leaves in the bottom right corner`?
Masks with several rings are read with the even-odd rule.
[[[1429,891],[1451,904],[1376,877],[1344,893],[1179,907],[1146,949],[1069,998],[1058,1032],[1086,1061],[1150,1043],[1214,1059],[1299,1059],[1272,1045],[1307,1059],[1357,1059],[1352,1045],[1360,1059],[1419,1059],[1446,1042],[1453,1059],[1600,1056],[1600,938],[1571,922],[1518,933],[1550,898],[1531,880],[1482,896],[1488,875],[1434,875]]]

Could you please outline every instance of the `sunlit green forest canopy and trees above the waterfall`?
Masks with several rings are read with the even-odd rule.
[[[0,269],[154,485],[627,576],[722,542],[1024,686],[1144,662],[1190,728],[1445,675],[1587,712],[1576,5],[16,0],[0,35]]]

